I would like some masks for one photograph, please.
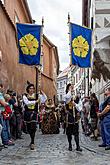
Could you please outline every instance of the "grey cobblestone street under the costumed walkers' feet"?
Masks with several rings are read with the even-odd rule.
[[[66,135],[42,135],[37,132],[36,150],[29,149],[29,136],[23,135],[15,146],[0,152],[0,165],[109,165],[110,151],[99,148],[99,142],[93,142],[81,134],[83,152],[68,151]]]

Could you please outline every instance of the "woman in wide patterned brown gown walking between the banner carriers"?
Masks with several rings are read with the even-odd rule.
[[[55,106],[52,104],[52,100],[49,99],[46,103],[46,110],[43,115],[43,121],[41,130],[43,134],[57,134],[59,133],[59,127],[54,114]]]

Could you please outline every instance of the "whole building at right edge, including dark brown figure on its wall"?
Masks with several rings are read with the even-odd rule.
[[[104,90],[110,86],[110,0],[84,0],[83,20],[93,28],[93,66],[90,71],[91,92],[99,101],[104,99]],[[84,18],[84,15],[89,17]]]

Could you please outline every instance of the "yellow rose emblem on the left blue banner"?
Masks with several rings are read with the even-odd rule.
[[[38,40],[32,34],[26,34],[19,40],[23,54],[36,55],[39,47]]]

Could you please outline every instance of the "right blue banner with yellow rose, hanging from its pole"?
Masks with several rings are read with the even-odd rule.
[[[72,64],[91,67],[92,30],[70,23]]]

